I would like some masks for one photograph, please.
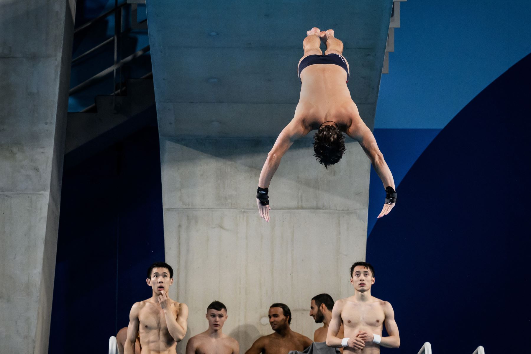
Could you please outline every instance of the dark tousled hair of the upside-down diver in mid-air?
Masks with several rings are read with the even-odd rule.
[[[345,135],[335,125],[322,125],[313,136],[313,156],[326,169],[338,163],[345,150]]]

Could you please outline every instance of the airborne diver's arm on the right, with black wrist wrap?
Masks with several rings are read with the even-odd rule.
[[[383,187],[386,188],[386,198],[387,193],[390,192],[387,189],[388,187],[391,187],[392,192],[395,193],[395,180],[393,179],[391,170],[387,166],[386,160],[383,159],[383,154],[378,148],[378,144],[376,144],[376,139],[374,139],[371,129],[363,123],[363,120],[359,116],[353,119],[353,123],[347,130],[347,135],[359,142],[359,145],[362,146],[363,151],[365,151],[365,154],[369,157],[369,160],[371,160],[372,167],[374,167],[376,174],[378,174],[378,177],[382,180]],[[393,200],[391,199],[391,202],[392,201]],[[391,209],[393,209],[393,206],[395,206],[395,203],[384,204],[378,218],[389,214]]]

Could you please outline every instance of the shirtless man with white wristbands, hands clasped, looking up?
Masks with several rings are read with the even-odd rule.
[[[350,267],[350,283],[354,295],[337,300],[328,326],[327,345],[344,347],[343,354],[379,354],[380,346],[398,348],[400,336],[391,304],[371,296],[374,268],[366,262],[356,262]],[[341,323],[345,338],[338,338]],[[389,336],[382,337],[383,324]]]

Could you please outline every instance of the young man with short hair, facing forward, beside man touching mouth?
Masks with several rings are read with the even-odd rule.
[[[208,330],[194,335],[186,343],[186,354],[239,354],[239,344],[221,332],[227,320],[227,308],[219,301],[207,307]]]

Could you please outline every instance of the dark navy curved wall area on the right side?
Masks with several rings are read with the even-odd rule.
[[[442,129],[376,222],[373,295],[395,308],[402,343],[388,352],[424,341],[436,352],[527,350],[530,82],[528,55]]]

